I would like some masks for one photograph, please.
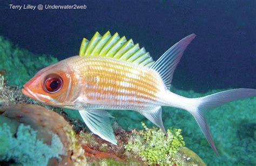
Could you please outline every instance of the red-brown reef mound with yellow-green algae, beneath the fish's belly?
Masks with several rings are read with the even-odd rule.
[[[90,164],[107,165],[205,165],[203,160],[184,146],[179,129],[168,130],[169,136],[157,127],[126,131],[114,122],[118,145],[106,142],[91,133],[79,134],[79,141],[90,156]]]

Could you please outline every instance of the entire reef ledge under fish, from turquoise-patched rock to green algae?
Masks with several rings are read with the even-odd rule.
[[[184,147],[180,129],[166,137],[156,127],[127,132],[114,122],[118,146],[78,129],[42,106],[0,109],[0,164],[22,165],[205,165]]]

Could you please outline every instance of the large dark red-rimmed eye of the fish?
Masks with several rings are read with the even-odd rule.
[[[56,93],[62,88],[63,80],[57,74],[50,74],[45,78],[44,90],[48,93]]]

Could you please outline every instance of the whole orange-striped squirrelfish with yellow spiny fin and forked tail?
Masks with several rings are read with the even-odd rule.
[[[211,148],[218,155],[205,113],[224,103],[256,96],[256,89],[238,88],[200,98],[172,93],[174,71],[183,53],[196,37],[181,39],[154,61],[132,39],[96,32],[83,38],[79,55],[40,70],[22,88],[22,93],[46,105],[78,110],[92,133],[117,145],[107,110],[134,110],[167,135],[162,106],[185,109],[196,119]]]

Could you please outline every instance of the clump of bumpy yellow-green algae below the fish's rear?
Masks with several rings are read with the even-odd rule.
[[[181,129],[168,129],[166,137],[161,129],[147,128],[143,122],[142,126],[145,130],[134,133],[125,149],[149,164],[180,164],[176,155],[178,149],[185,146]]]

